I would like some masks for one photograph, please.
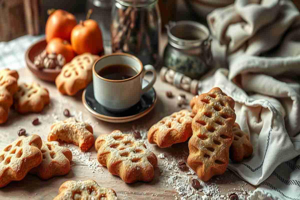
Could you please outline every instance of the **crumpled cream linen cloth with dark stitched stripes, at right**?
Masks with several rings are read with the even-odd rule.
[[[259,187],[247,198],[300,199],[300,15],[288,0],[236,0],[207,16],[221,63],[198,93],[220,87],[253,155],[229,169]],[[228,68],[228,69],[225,69]]]

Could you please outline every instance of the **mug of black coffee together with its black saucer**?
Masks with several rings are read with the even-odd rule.
[[[152,73],[151,81],[144,78]],[[123,123],[148,114],[155,106],[156,71],[134,55],[104,55],[93,65],[93,82],[82,93],[85,108],[96,118]]]

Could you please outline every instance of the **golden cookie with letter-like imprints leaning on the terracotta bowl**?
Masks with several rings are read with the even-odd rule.
[[[55,79],[58,91],[73,96],[79,90],[86,88],[92,80],[94,59],[90,53],[84,53],[65,64]]]

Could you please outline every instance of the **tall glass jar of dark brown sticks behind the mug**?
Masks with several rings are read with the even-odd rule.
[[[110,30],[113,52],[135,55],[144,65],[158,64],[161,16],[157,0],[115,0]]]

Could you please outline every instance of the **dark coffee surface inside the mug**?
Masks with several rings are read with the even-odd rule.
[[[125,80],[137,75],[137,71],[126,64],[112,64],[99,70],[98,75],[110,80]]]

